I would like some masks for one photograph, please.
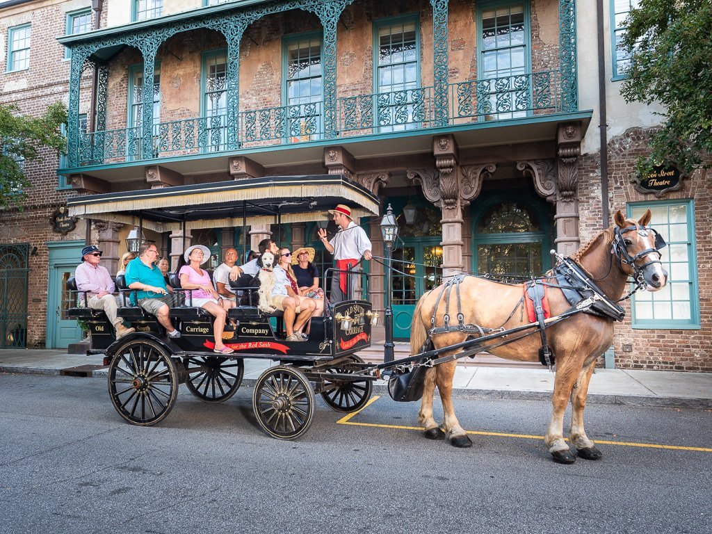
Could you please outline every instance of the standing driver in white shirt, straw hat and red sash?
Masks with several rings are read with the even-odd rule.
[[[351,300],[357,298],[357,282],[360,268],[355,268],[354,274],[350,275],[350,284],[347,283],[347,268],[349,264],[355,266],[363,257],[367,260],[372,258],[371,241],[366,235],[366,231],[358,226],[351,218],[351,209],[349,206],[339,204],[334,209],[330,209],[329,213],[334,216],[334,222],[339,226],[340,231],[331,241],[326,239],[326,229],[319,229],[319,239],[324,244],[325,248],[334,255],[336,268],[341,271],[334,273],[331,278],[331,294],[329,298],[331,302],[337,303],[342,300]],[[347,295],[347,286],[351,287],[351,294]]]

